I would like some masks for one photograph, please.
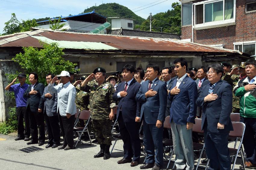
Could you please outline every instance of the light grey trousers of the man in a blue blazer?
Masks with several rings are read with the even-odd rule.
[[[194,169],[194,151],[192,142],[192,129],[187,130],[186,124],[175,124],[171,121],[173,136],[173,151],[177,170]]]

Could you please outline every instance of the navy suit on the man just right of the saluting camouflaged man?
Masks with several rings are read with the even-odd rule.
[[[113,95],[113,99],[118,101],[117,121],[119,131],[123,140],[124,159],[139,161],[140,140],[139,140],[139,122],[135,122],[136,115],[140,115],[140,103],[135,101],[136,94],[141,86],[140,83],[132,80],[127,88],[125,97],[117,97],[120,91],[124,91],[125,82],[118,84]]]

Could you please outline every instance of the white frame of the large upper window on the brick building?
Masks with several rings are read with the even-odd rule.
[[[205,22],[205,4],[210,4],[214,2],[223,1],[223,20],[220,21],[211,21],[211,22]],[[225,1],[226,0],[207,0],[202,2],[197,2],[193,4],[193,26],[195,29],[207,29],[207,28],[216,28],[216,27],[222,27],[222,26],[228,26],[228,25],[235,25],[236,24],[236,0],[233,0],[233,18],[232,19],[225,19]],[[195,6],[203,4],[203,23],[201,24],[195,24]]]

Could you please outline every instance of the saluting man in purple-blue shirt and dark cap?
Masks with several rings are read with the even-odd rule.
[[[16,79],[18,78],[18,84],[14,84]],[[15,95],[16,101],[16,114],[18,120],[18,137],[15,139],[29,141],[30,137],[30,127],[29,127],[29,117],[26,112],[27,106],[27,98],[23,97],[24,92],[28,88],[28,84],[26,82],[26,74],[20,73],[17,78],[15,78],[8,86],[6,86],[5,90],[13,91]],[[25,122],[25,128],[23,126],[23,119]]]

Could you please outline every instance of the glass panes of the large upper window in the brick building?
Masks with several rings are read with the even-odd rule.
[[[228,19],[234,19],[234,3],[234,0],[213,0],[195,3],[195,25],[216,21],[218,24],[228,23]],[[220,23],[220,21],[223,21],[223,23]]]

